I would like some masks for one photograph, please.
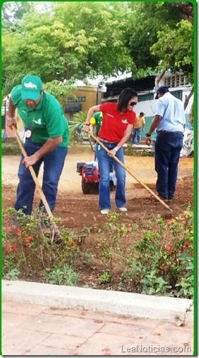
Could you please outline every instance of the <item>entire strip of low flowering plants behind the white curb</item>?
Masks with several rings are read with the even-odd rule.
[[[120,291],[192,298],[190,207],[171,219],[152,217],[142,228],[137,224],[127,228],[122,218],[123,215],[110,211],[101,229],[96,224],[79,232],[61,227],[56,243],[52,242],[50,219],[42,211],[28,216],[21,210],[8,209],[3,212],[3,219],[8,227],[13,221],[16,226],[12,232],[5,230],[2,234],[2,277],[78,285],[86,272],[89,281],[85,283],[92,287],[96,282],[110,287],[111,282],[111,288]],[[58,223],[56,218],[55,221]],[[137,240],[124,249],[129,235]],[[92,246],[96,249],[94,255]]]

